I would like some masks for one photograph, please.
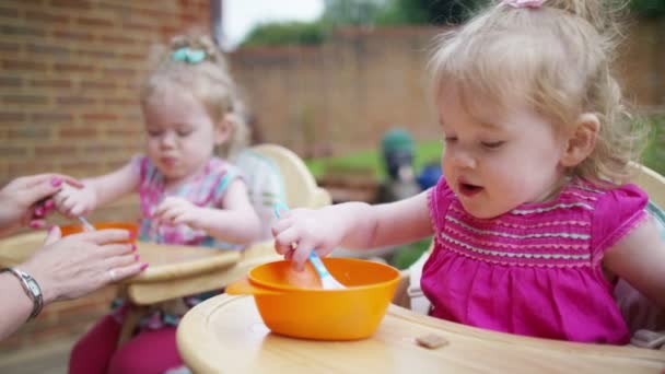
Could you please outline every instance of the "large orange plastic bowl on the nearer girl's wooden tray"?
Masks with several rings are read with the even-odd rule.
[[[303,279],[290,273],[291,261],[283,260],[255,267],[248,277],[230,284],[226,293],[254,295],[264,323],[276,334],[316,340],[370,337],[393,300],[399,271],[353,258],[323,261],[347,289],[303,288]],[[314,270],[306,268],[310,271]]]

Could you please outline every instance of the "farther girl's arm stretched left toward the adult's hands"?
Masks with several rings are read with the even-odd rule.
[[[63,188],[54,201],[60,213],[74,218],[85,215],[97,207],[107,204],[131,192],[139,184],[139,173],[133,162],[98,177],[83,179],[83,188]]]

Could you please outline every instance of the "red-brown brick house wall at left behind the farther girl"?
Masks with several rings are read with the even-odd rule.
[[[40,172],[90,176],[141,151],[137,82],[148,48],[192,26],[209,30],[209,0],[0,1],[0,184]],[[132,219],[126,199],[93,219]],[[0,343],[1,354],[81,334],[108,288],[47,306]]]

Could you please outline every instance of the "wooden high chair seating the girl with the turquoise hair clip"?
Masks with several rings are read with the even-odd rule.
[[[304,162],[281,145],[253,147],[242,152],[237,164],[249,186],[253,204],[264,220],[272,218],[271,207],[279,200],[285,199],[291,207],[307,208],[318,208],[331,201],[330,195],[316,185]],[[269,229],[266,221],[264,241],[243,252],[139,242],[141,260],[149,262],[150,267],[120,285],[121,294],[138,307],[127,315],[119,342],[131,336],[138,320],[151,305],[221,290],[253,267],[281,259],[275,252],[273,242],[268,239]],[[30,232],[1,239],[0,265],[23,262],[40,247],[44,238],[44,232]]]

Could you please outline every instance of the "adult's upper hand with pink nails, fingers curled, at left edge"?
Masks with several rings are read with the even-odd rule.
[[[0,234],[9,234],[28,224],[33,229],[44,227],[44,217],[52,208],[49,197],[66,185],[77,188],[83,186],[70,176],[50,173],[19,177],[10,182],[0,190]]]

